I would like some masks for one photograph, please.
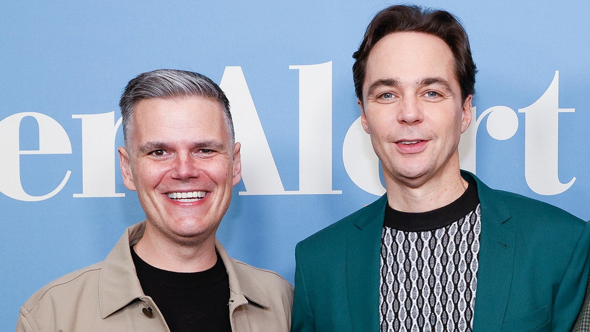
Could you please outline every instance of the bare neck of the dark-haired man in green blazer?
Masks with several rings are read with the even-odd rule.
[[[432,177],[417,186],[387,179],[385,183],[389,206],[398,211],[414,213],[447,206],[457,200],[468,186],[459,170],[445,176]]]

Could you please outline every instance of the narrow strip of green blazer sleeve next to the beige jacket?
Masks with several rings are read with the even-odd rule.
[[[295,247],[295,294],[293,297],[291,332],[315,331],[312,307],[309,304],[309,296],[305,285],[300,246],[301,243],[297,243]]]

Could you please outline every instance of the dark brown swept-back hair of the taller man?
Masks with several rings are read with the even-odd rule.
[[[471,57],[467,32],[458,19],[450,12],[440,9],[394,5],[375,15],[365,31],[359,50],[352,54],[356,60],[352,66],[355,93],[361,102],[369,53],[381,38],[394,32],[423,32],[441,38],[453,53],[455,75],[461,87],[462,99],[465,100],[468,95],[475,93],[477,67]]]

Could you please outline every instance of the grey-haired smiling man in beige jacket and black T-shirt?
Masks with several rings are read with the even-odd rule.
[[[17,331],[288,331],[293,287],[215,239],[241,179],[225,94],[163,69],[131,80],[119,105],[123,183],[146,219],[103,262],[32,295]]]

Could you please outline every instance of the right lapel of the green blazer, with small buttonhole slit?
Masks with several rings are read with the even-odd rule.
[[[490,187],[477,181],[481,204],[480,252],[478,258],[474,331],[500,331],[512,284],[516,234],[503,226],[510,219],[504,201]]]

